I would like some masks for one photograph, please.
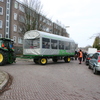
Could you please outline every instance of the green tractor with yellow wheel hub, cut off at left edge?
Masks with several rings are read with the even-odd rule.
[[[0,66],[12,64],[16,60],[16,55],[11,39],[0,38]]]

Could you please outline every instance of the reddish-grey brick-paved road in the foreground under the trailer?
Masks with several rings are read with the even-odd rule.
[[[0,69],[13,76],[11,89],[0,100],[100,100],[100,75],[78,60],[43,66],[17,59]]]

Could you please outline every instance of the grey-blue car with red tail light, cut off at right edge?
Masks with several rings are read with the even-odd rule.
[[[100,72],[100,52],[94,53],[89,60],[89,69],[92,69],[94,74]]]

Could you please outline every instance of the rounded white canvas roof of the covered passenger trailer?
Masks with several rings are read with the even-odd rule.
[[[40,38],[40,37],[56,39],[56,40],[63,40],[63,41],[68,40],[68,41],[74,42],[74,40],[71,38],[60,36],[60,35],[55,35],[52,33],[43,32],[43,31],[38,31],[38,30],[27,31],[24,35],[24,39],[34,39],[34,38]]]

